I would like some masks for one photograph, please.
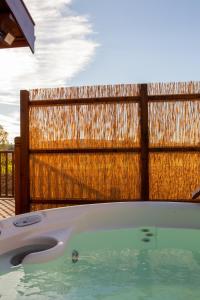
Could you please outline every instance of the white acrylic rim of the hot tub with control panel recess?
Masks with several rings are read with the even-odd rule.
[[[21,218],[30,216],[37,216],[38,222],[25,227],[14,225]],[[10,253],[10,257],[7,255],[7,264],[11,265],[13,250],[16,252],[18,249],[20,253],[20,249],[42,244],[44,249],[41,249],[44,251],[27,252],[23,263],[48,262],[63,254],[69,238],[75,233],[146,226],[200,229],[200,204],[103,203],[50,209],[11,217],[0,222],[0,257]]]

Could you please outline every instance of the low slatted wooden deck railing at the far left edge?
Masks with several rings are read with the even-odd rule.
[[[0,151],[0,198],[14,197],[14,151]]]

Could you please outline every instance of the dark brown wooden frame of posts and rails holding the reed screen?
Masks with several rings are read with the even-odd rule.
[[[148,95],[148,85],[139,86],[138,96],[131,97],[103,97],[103,98],[83,98],[83,99],[59,99],[59,100],[31,100],[28,91],[21,91],[21,162],[20,172],[17,172],[17,182],[21,189],[16,192],[17,202],[19,203],[17,213],[30,211],[32,204],[60,204],[74,205],[87,203],[113,202],[116,200],[95,200],[89,199],[30,199],[30,179],[29,179],[29,155],[30,154],[61,154],[61,153],[140,153],[140,174],[141,174],[141,198],[124,199],[124,201],[148,201],[149,200],[149,154],[150,153],[184,153],[200,152],[199,146],[191,147],[150,147],[149,146],[149,128],[148,128],[148,103],[149,102],[179,102],[179,101],[200,101],[200,94],[175,94],[175,95]],[[84,148],[84,149],[29,149],[29,109],[34,106],[57,106],[57,105],[76,105],[76,104],[99,104],[99,103],[138,103],[140,109],[140,128],[141,145],[140,147],[121,147],[121,148]],[[17,155],[16,155],[17,156]],[[192,191],[191,191],[192,192]],[[17,194],[18,193],[18,194]],[[156,199],[156,201],[177,201],[176,199]],[[186,199],[178,200],[185,201]],[[193,200],[194,201],[194,200]],[[198,201],[198,200],[196,200]],[[191,199],[192,202],[192,199]],[[195,202],[195,201],[194,201]]]

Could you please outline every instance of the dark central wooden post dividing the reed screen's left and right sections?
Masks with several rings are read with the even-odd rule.
[[[149,200],[149,128],[147,84],[140,85],[140,126],[141,126],[141,200]]]

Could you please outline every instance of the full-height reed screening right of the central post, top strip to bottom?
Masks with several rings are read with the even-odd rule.
[[[200,186],[199,92],[199,82],[148,85],[151,96],[180,95],[148,103],[150,200],[191,201]]]

